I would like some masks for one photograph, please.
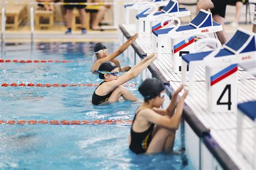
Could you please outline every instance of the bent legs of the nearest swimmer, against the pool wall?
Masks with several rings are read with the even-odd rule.
[[[147,148],[146,153],[159,153],[162,151],[171,152],[175,139],[175,131],[160,126],[156,126],[153,138]]]

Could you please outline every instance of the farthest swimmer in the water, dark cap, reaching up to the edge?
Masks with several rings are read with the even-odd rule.
[[[96,61],[93,63],[91,67],[91,72],[96,73],[100,64],[106,61],[111,61],[117,65],[120,72],[127,72],[131,69],[130,66],[125,66],[123,69],[120,66],[120,63],[118,60],[115,60],[119,54],[123,53],[125,49],[127,49],[133,41],[136,40],[138,37],[138,33],[134,34],[131,38],[129,38],[122,46],[120,46],[117,51],[113,52],[110,55],[107,55],[107,49],[106,46],[102,43],[97,43],[94,47],[95,56],[97,57]],[[94,58],[94,57],[93,57]]]

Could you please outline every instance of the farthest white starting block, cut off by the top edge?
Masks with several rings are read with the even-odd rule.
[[[137,10],[137,15],[142,12],[143,10],[140,8],[140,3],[145,3],[142,2],[141,0],[139,1],[134,1],[135,3],[132,4],[126,4],[124,5],[124,11],[125,11],[125,24],[129,24],[129,20],[130,20],[130,11],[131,10]],[[150,2],[146,2],[146,3],[150,3]],[[154,5],[156,5],[158,8],[160,8],[161,6],[165,6],[168,2],[167,1],[163,1],[163,0],[156,0],[156,1],[152,1],[152,3]]]

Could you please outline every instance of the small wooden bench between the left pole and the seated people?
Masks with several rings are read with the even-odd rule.
[[[35,26],[36,29],[50,28],[54,23],[54,12],[46,10],[35,11]]]

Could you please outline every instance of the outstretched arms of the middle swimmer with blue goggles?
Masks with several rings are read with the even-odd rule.
[[[117,80],[113,80],[111,82],[106,82],[105,84],[111,88],[118,87],[127,81],[137,77],[142,71],[149,66],[154,60],[157,59],[157,56],[154,55],[153,57],[151,55],[147,56],[144,60],[140,61],[142,64],[138,63],[139,67],[136,69],[132,69],[131,71],[125,73],[124,75],[120,76]]]

